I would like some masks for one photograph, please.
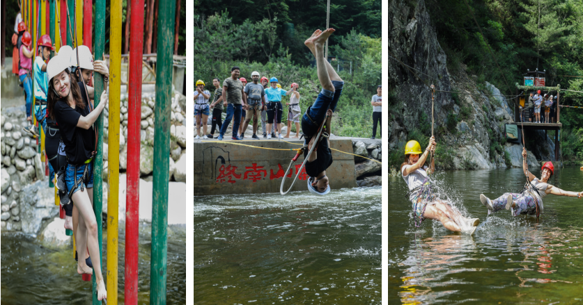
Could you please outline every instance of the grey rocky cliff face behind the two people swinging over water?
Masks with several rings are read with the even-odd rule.
[[[433,84],[437,90],[476,94],[454,97],[435,92],[434,134],[452,157],[449,168],[520,166],[522,146],[504,140],[504,124],[513,122],[512,101],[498,95],[494,85],[468,76],[463,65],[456,74],[449,72],[423,0],[391,0],[389,12],[389,90],[396,93],[389,99],[389,149],[401,149],[410,133],[430,129],[428,85]],[[531,166],[537,165],[537,159],[554,160],[554,144],[544,131],[529,133],[527,138],[536,138],[538,143],[534,154],[529,152]]]

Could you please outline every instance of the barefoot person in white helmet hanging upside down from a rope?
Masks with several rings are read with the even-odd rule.
[[[316,101],[309,106],[306,113],[302,116],[302,131],[304,131],[305,142],[309,143],[308,149],[304,151],[306,158],[308,151],[313,145],[318,145],[310,156],[307,156],[306,174],[308,179],[308,190],[317,195],[326,195],[330,192],[329,178],[326,176],[327,168],[332,165],[332,151],[330,151],[328,137],[320,137],[311,141],[318,135],[320,126],[325,121],[325,132],[330,134],[330,120],[338,104],[338,99],[342,94],[344,81],[336,74],[332,65],[324,58],[324,47],[326,40],[334,33],[334,28],[328,28],[326,31],[316,30],[304,44],[316,57],[316,66],[318,71],[318,80],[322,85],[322,91],[318,94]],[[270,127],[267,127],[269,130]],[[324,131],[322,131],[322,134]]]

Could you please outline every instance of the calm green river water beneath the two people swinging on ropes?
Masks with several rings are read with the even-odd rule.
[[[547,195],[538,222],[506,210],[488,216],[479,195],[520,192],[522,170],[437,173],[437,181],[454,206],[482,223],[472,237],[432,220],[416,228],[405,181],[389,178],[389,304],[583,302],[583,199]],[[556,170],[550,183],[581,192],[583,171]]]

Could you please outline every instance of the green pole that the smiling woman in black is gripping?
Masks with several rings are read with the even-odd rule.
[[[64,0],[63,0],[64,1]],[[68,40],[72,41],[72,40]],[[95,60],[103,60],[103,53],[105,49],[105,0],[95,1]],[[93,80],[95,83],[95,107],[100,103],[101,94],[104,90],[103,76],[99,73],[93,74]],[[103,265],[102,253],[103,248],[101,245],[102,240],[102,227],[101,227],[101,211],[103,206],[103,179],[102,179],[102,169],[103,169],[103,113],[101,113],[95,121],[95,128],[98,131],[98,147],[97,154],[95,155],[95,160],[93,160],[93,211],[95,212],[95,218],[98,222],[98,243],[99,243],[99,259],[101,263],[102,274],[105,273],[105,268]],[[95,290],[97,290],[97,283],[95,283],[95,272],[93,272],[93,305],[101,305],[101,301],[98,301]]]

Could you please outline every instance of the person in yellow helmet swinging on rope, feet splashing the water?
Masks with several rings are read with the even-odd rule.
[[[415,224],[417,225],[418,218],[421,220],[419,224],[426,219],[439,220],[448,230],[472,235],[480,220],[464,217],[460,211],[440,199],[437,193],[432,192],[428,174],[435,172],[435,158],[432,158],[430,167],[424,164],[430,151],[435,151],[435,147],[437,143],[433,136],[423,154],[419,142],[411,140],[405,145],[405,162],[401,164],[401,175],[409,186],[408,194],[416,219]]]

